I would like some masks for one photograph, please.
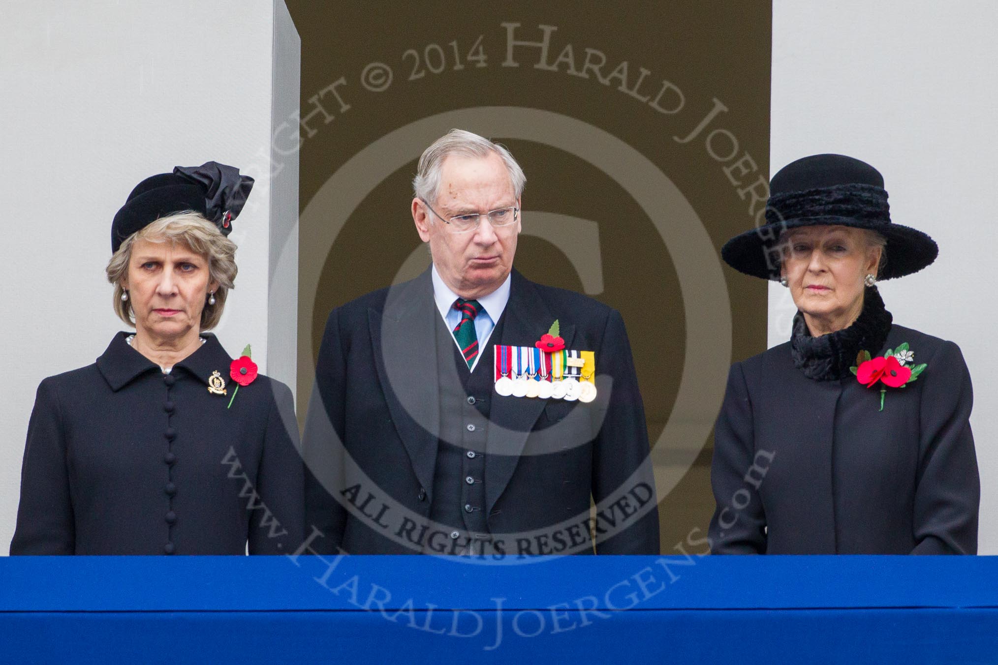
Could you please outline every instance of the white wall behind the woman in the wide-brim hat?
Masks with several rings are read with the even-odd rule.
[[[974,382],[979,549],[998,553],[998,10],[989,0],[774,0],[770,168],[839,153],[883,173],[891,219],[939,258],[881,285],[894,320],[960,345]],[[770,286],[769,345],[792,303]]]

